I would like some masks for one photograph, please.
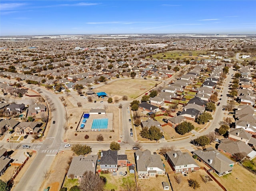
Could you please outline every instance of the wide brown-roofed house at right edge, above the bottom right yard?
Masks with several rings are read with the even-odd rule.
[[[252,148],[245,144],[245,142],[241,140],[229,140],[223,139],[220,141],[218,146],[218,151],[223,152],[231,157],[236,157],[237,153],[245,153],[246,158],[252,160],[256,157],[256,151],[252,150]]]

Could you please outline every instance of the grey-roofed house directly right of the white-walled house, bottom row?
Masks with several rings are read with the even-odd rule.
[[[175,173],[190,172],[199,170],[200,167],[196,161],[187,153],[180,150],[166,153],[167,161]]]

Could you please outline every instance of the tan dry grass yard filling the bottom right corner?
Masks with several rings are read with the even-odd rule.
[[[252,191],[256,188],[256,175],[239,165],[234,165],[232,173],[222,177],[212,174],[228,191]]]

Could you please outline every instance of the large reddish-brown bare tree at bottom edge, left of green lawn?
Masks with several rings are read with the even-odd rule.
[[[99,175],[92,171],[86,171],[80,182],[79,188],[81,191],[102,191],[104,188],[104,181]]]

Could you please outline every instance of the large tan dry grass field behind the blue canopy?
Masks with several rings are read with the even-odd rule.
[[[158,82],[159,83],[159,82]],[[109,97],[127,95],[128,99],[134,99],[146,93],[156,85],[156,81],[145,79],[124,79],[94,89],[95,92],[106,92]]]

